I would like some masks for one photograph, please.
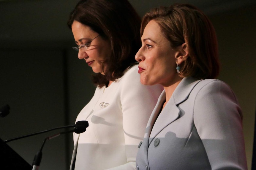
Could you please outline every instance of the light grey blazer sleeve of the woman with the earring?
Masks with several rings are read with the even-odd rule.
[[[201,87],[195,98],[194,123],[212,170],[247,169],[242,113],[228,85],[214,80]]]

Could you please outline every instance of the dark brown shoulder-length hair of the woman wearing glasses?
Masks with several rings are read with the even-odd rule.
[[[93,76],[94,84],[102,87],[115,81],[124,70],[135,64],[134,58],[141,46],[141,19],[127,0],[81,0],[69,16],[68,26],[74,20],[91,27],[111,43],[112,55],[105,59],[105,75]]]

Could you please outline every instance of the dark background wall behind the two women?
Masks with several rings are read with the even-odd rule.
[[[10,115],[0,119],[2,140],[74,124],[94,94],[91,69],[77,58],[72,32],[66,22],[78,1],[0,1],[0,107],[9,104]],[[236,93],[243,110],[248,169],[256,103],[255,2],[252,1],[135,1],[142,16],[148,9],[188,2],[211,19],[219,41],[220,80]],[[29,164],[48,132],[8,143]],[[40,169],[68,169],[72,134],[49,140],[43,148]],[[1,154],[1,153],[0,153]]]

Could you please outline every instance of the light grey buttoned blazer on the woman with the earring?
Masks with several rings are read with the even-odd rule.
[[[227,84],[184,78],[161,111],[164,102],[165,91],[139,145],[138,170],[247,169],[242,113]]]

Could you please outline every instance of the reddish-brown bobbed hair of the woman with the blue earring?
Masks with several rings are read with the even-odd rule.
[[[203,12],[189,4],[152,9],[142,19],[141,35],[150,20],[159,24],[174,49],[183,43],[187,44],[188,57],[180,65],[181,77],[206,79],[219,75],[216,33]]]

